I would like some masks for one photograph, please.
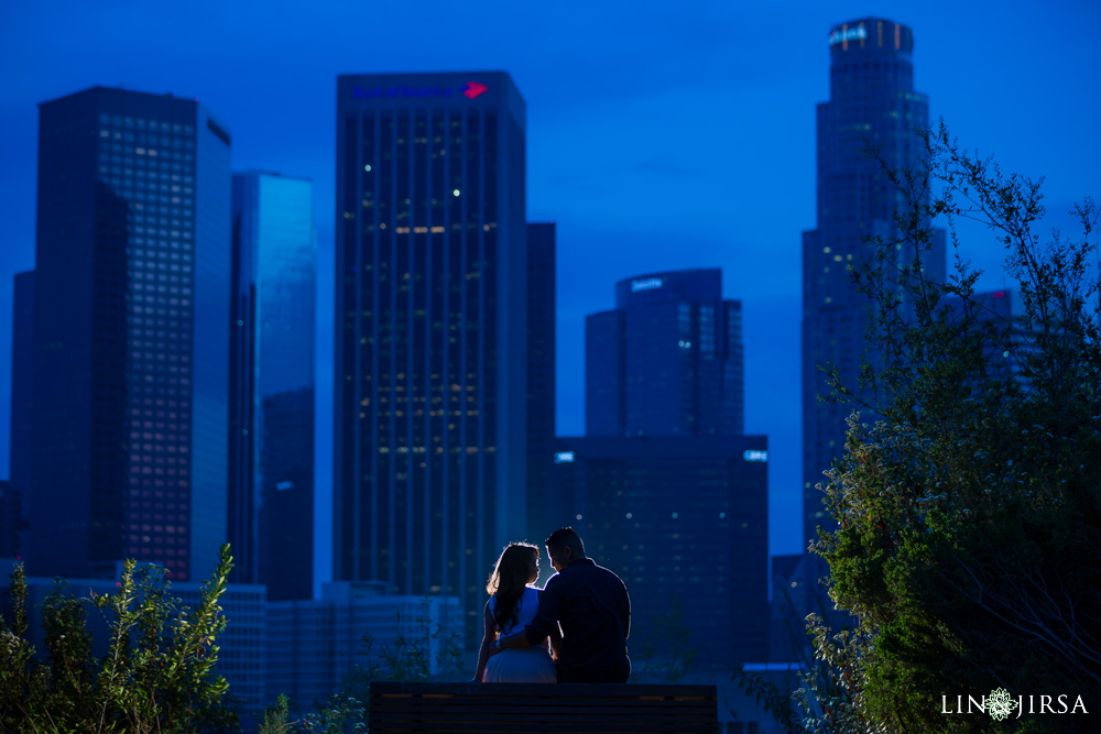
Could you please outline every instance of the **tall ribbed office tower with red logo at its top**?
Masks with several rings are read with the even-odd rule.
[[[524,100],[508,74],[337,83],[334,578],[457,595],[526,522]]]

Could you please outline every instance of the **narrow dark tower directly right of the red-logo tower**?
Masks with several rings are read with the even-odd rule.
[[[527,224],[527,533],[542,540],[554,465],[555,226]],[[550,528],[554,529],[554,528]]]

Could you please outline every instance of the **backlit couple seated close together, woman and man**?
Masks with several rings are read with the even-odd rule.
[[[557,571],[544,589],[539,549],[505,547],[486,591],[486,632],[475,681],[495,683],[625,683],[631,676],[626,638],[631,598],[613,572],[585,555],[570,527],[544,545]]]

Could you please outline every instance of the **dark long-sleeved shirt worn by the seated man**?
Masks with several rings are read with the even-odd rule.
[[[532,645],[562,623],[559,682],[626,682],[631,661],[631,599],[618,576],[582,558],[550,577],[524,634]],[[622,680],[620,680],[622,678]]]

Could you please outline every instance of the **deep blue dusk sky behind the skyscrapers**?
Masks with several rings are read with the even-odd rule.
[[[12,276],[34,266],[36,103],[95,86],[198,97],[235,169],[312,178],[318,231],[318,491],[331,485],[336,77],[503,69],[527,101],[527,218],[558,226],[558,426],[584,432],[585,316],[615,281],[723,271],[743,303],[746,429],[770,437],[770,550],[798,552],[802,231],[815,227],[815,105],[832,24],[914,29],[915,83],[968,147],[1046,176],[1051,224],[1101,196],[1101,3],[0,3],[0,476]],[[964,252],[1005,282],[996,244]],[[329,512],[318,516],[328,577]]]

